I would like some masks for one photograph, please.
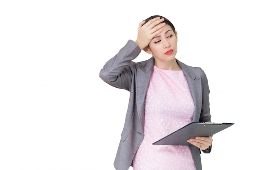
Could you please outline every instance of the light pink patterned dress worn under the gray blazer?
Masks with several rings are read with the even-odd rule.
[[[195,170],[188,146],[152,145],[192,121],[195,106],[183,71],[154,66],[146,95],[144,140],[133,170]]]

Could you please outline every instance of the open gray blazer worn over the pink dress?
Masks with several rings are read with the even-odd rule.
[[[99,74],[101,79],[111,86],[130,91],[124,129],[114,162],[116,170],[128,170],[132,166],[132,160],[144,138],[145,97],[153,71],[154,58],[132,62],[140,52],[139,46],[129,40],[117,55],[106,62]],[[210,122],[210,91],[204,71],[198,67],[187,66],[179,60],[177,63],[184,72],[195,104],[193,121]],[[189,147],[196,169],[202,170],[200,149],[195,146]],[[203,152],[211,152],[211,146]]]

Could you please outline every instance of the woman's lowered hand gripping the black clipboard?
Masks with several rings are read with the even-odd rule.
[[[211,137],[195,137],[187,140],[187,142],[200,148],[201,150],[206,150],[211,146],[213,139]]]

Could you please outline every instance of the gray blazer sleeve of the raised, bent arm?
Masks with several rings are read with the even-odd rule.
[[[132,81],[134,60],[141,49],[132,40],[128,40],[126,45],[119,50],[119,52],[112,57],[103,66],[99,73],[99,77],[111,86],[130,90]]]

